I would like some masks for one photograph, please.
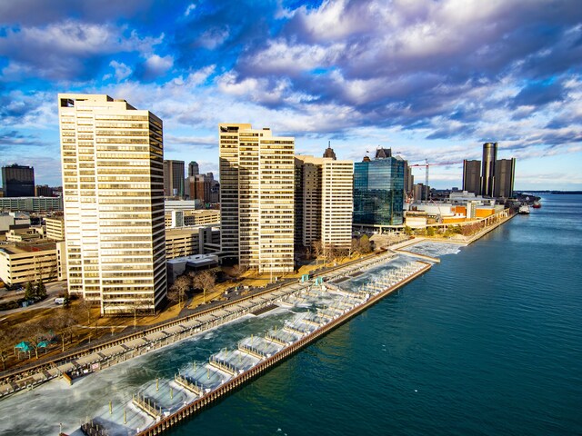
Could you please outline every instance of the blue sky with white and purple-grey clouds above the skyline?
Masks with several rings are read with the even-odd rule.
[[[517,190],[582,190],[581,65],[579,0],[0,0],[0,164],[60,185],[74,92],[150,110],[203,173],[217,124],[251,123],[297,154],[427,159],[436,188],[497,142]]]

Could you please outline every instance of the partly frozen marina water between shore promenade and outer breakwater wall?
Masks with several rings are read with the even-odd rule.
[[[360,272],[361,275],[357,276],[353,285],[349,284],[351,281],[345,281],[347,289],[356,284],[369,282],[370,279],[374,280],[386,276],[388,272],[400,271],[403,267],[406,268],[406,265],[412,265],[405,256],[395,258],[394,255],[390,254],[370,259],[366,263],[375,266],[369,266],[370,269],[365,273]],[[422,266],[422,263],[416,264],[417,266],[413,268],[416,271],[417,268],[424,270],[428,266],[426,264]],[[358,265],[359,267],[361,266]],[[366,279],[366,277],[368,278]],[[392,281],[394,282],[395,279],[396,277]],[[403,276],[402,279],[406,280],[406,277]],[[310,296],[314,291],[319,296]],[[37,387],[33,392],[18,392],[14,396],[6,398],[5,401],[0,401],[0,414],[5,413],[7,416],[9,411],[15,407],[25,407],[30,411],[35,411],[37,419],[30,421],[28,415],[18,415],[11,420],[0,421],[0,431],[3,431],[3,434],[50,434],[52,427],[55,426],[53,423],[62,422],[65,432],[80,434],[78,424],[75,422],[89,420],[95,429],[97,429],[97,425],[99,428],[105,427],[106,434],[135,434],[135,431],[144,430],[151,423],[151,419],[135,409],[131,404],[132,396],[135,395],[134,398],[141,399],[146,395],[153,401],[161,401],[159,404],[163,406],[164,412],[171,413],[182,405],[182,401],[192,400],[191,394],[184,392],[180,386],[176,386],[173,381],[170,381],[172,371],[176,373],[176,371],[180,372],[181,370],[189,378],[193,376],[193,372],[196,372],[198,383],[203,383],[211,389],[221,385],[220,389],[223,389],[226,384],[222,383],[227,380],[224,373],[217,373],[216,369],[208,368],[208,365],[206,365],[207,370],[202,368],[202,365],[207,363],[210,351],[215,354],[217,352],[216,357],[222,360],[226,357],[226,350],[224,353],[222,351],[225,345],[225,348],[232,350],[232,347],[236,347],[237,342],[240,344],[245,337],[252,342],[253,333],[256,335],[256,340],[259,339],[258,334],[263,335],[267,331],[270,332],[271,336],[276,336],[278,333],[274,333],[272,329],[275,327],[276,330],[277,324],[280,329],[285,323],[293,322],[293,320],[297,320],[297,317],[303,319],[304,315],[308,313],[313,313],[309,315],[310,317],[316,312],[320,313],[321,316],[327,316],[329,315],[328,310],[339,310],[339,305],[343,306],[345,302],[350,300],[349,297],[342,296],[337,301],[339,305],[336,306],[333,303],[336,297],[330,298],[331,295],[327,292],[321,293],[316,290],[306,292],[306,296],[298,296],[301,298],[296,301],[298,305],[292,310],[279,310],[258,318],[247,316],[239,320],[245,324],[243,328],[236,326],[233,330],[233,325],[220,326],[216,332],[200,333],[192,340],[176,342],[166,349],[148,353],[129,362],[121,363],[114,368],[86,376],[75,381],[72,387],[63,388],[62,384],[58,384],[59,381],[54,380]],[[323,311],[321,311],[322,308]],[[297,311],[304,312],[304,315],[300,315]],[[316,315],[316,318],[318,317],[319,315]],[[319,322],[316,325],[320,325]],[[297,325],[301,327],[301,323],[299,322]],[[309,328],[306,325],[301,327],[302,331],[306,328],[312,330],[314,327]],[[251,333],[250,338],[248,338],[249,332]],[[216,336],[211,333],[216,333]],[[271,348],[272,345],[269,347]],[[263,352],[264,348],[262,346],[260,348]],[[231,352],[228,359],[232,357],[234,356]],[[247,361],[247,356],[244,362],[237,362],[235,357],[235,361],[229,364],[238,366],[242,363],[246,365]],[[212,386],[209,386],[208,383]],[[150,400],[147,400],[147,407],[149,408],[149,406]],[[161,409],[159,413],[162,413]]]

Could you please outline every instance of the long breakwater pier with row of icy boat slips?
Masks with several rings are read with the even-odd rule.
[[[392,256],[383,256],[383,263]],[[382,262],[370,260],[363,268],[370,268]],[[346,282],[340,277],[348,273],[346,280],[360,276],[355,269],[343,269],[334,282],[311,284],[299,292],[288,294],[283,303],[303,307],[304,311],[288,312],[282,329],[268,330],[263,335],[251,335],[231,344],[230,349],[222,349],[211,355],[206,364],[187,365],[178,368],[174,379],[144,383],[140,391],[133,395],[131,407],[127,402],[116,403],[114,409],[103,411],[82,425],[85,434],[95,431],[127,429],[133,434],[141,415],[138,435],[156,435],[167,431],[178,422],[210,407],[215,401],[234,391],[270,367],[284,361],[319,337],[335,329],[338,325],[366,310],[386,295],[426,272],[430,263],[406,262],[400,266],[375,270],[366,282],[349,284],[344,288],[334,282]],[[361,269],[361,268],[359,268]],[[305,308],[310,309],[305,312]],[[127,396],[125,396],[127,398]],[[132,397],[130,397],[132,398]],[[135,398],[138,401],[135,401]],[[145,400],[147,399],[147,400]],[[138,409],[139,412],[135,411]],[[146,418],[148,417],[148,418]],[[105,434],[105,433],[104,433]],[[125,434],[125,432],[124,432]]]

